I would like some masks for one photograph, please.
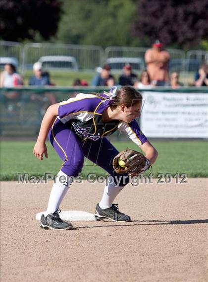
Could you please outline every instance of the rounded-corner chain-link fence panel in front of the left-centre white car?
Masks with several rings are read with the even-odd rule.
[[[95,70],[101,65],[103,48],[88,45],[28,43],[23,50],[23,69],[41,61],[47,70]]]

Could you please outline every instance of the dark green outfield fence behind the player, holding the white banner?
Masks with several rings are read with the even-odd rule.
[[[18,87],[0,89],[0,135],[2,139],[37,138],[41,121],[47,108],[60,101],[76,96],[77,93],[102,93],[107,87]],[[203,87],[171,89],[156,87],[149,92],[207,93]],[[192,93],[191,93],[192,92]],[[173,94],[174,95],[174,94]],[[121,139],[119,132],[112,138]],[[124,138],[124,136],[122,137]]]

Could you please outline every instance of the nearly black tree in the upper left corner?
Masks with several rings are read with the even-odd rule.
[[[0,0],[1,38],[10,41],[33,39],[37,32],[49,39],[57,31],[61,16],[58,0]]]

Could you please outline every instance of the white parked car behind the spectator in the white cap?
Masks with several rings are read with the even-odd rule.
[[[77,71],[79,69],[76,58],[70,56],[44,56],[38,61],[42,63],[43,69],[47,70]]]

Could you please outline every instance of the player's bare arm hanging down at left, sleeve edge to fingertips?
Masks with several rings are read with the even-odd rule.
[[[33,149],[34,155],[40,160],[43,160],[43,154],[45,154],[46,158],[48,158],[46,138],[49,129],[51,128],[56,116],[58,115],[58,106],[59,103],[51,105],[47,109],[44,118],[42,120],[38,139]]]

